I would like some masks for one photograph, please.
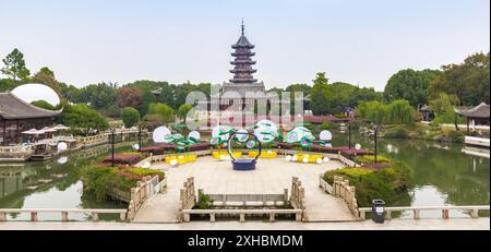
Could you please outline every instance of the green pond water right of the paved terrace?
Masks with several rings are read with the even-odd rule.
[[[347,133],[336,131],[333,145],[348,145]],[[374,148],[373,139],[352,135],[352,145]],[[422,140],[378,141],[378,153],[399,159],[412,169],[415,187],[408,199],[394,206],[489,205],[490,159],[463,153],[463,144],[435,143]],[[489,149],[484,151],[488,152]],[[489,212],[481,212],[489,216]],[[404,213],[403,217],[411,217]],[[421,212],[421,217],[439,217],[440,212]],[[468,216],[468,213],[451,212],[451,216]]]

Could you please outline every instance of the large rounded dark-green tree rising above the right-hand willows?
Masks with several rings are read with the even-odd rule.
[[[402,70],[388,80],[384,89],[384,98],[387,101],[406,99],[414,107],[422,106],[428,103],[430,83],[440,74],[441,72],[435,70]]]

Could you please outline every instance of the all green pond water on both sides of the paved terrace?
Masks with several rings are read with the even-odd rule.
[[[334,146],[347,145],[347,134],[334,133]],[[373,148],[373,141],[354,135],[352,143]],[[415,187],[397,206],[489,205],[490,160],[467,155],[460,144],[441,144],[417,140],[379,140],[379,153],[406,161],[412,169]],[[128,148],[127,148],[128,149]],[[118,151],[123,151],[122,148]],[[0,164],[0,208],[127,208],[118,202],[97,202],[83,195],[79,169],[87,159],[108,154],[103,145],[47,163]],[[402,217],[409,218],[411,213]],[[468,216],[452,212],[452,216]],[[481,213],[489,216],[489,212]],[[421,217],[439,217],[439,212],[421,212]],[[89,216],[71,215],[71,219]],[[11,215],[10,219],[28,220],[28,214]],[[116,220],[117,215],[101,215]],[[40,214],[39,219],[59,220],[59,214]]]

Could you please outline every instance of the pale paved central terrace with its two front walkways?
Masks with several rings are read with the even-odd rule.
[[[135,223],[176,223],[179,209],[179,190],[189,177],[194,177],[195,188],[205,193],[282,194],[291,190],[291,178],[298,177],[306,189],[306,208],[309,221],[354,220],[346,204],[324,193],[319,188],[319,175],[342,168],[343,164],[323,165],[288,163],[284,158],[259,159],[253,171],[235,171],[229,161],[200,157],[197,161],[178,168],[159,163],[153,168],[167,175],[167,192],[148,201],[136,214]]]

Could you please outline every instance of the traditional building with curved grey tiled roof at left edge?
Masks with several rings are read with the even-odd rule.
[[[12,93],[0,93],[0,145],[22,143],[21,132],[49,125],[60,112],[27,104]]]

